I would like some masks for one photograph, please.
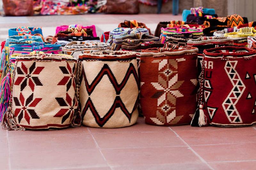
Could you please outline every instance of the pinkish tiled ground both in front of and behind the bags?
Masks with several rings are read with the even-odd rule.
[[[82,24],[97,33],[114,29],[124,19],[137,19],[153,31],[172,15],[83,15],[0,17],[0,39],[16,26]],[[120,129],[70,128],[59,131],[0,129],[0,169],[256,169],[256,126],[245,128],[158,127],[139,118]]]

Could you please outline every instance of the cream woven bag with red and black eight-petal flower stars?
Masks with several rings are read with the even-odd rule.
[[[77,61],[70,55],[12,55],[15,57],[10,105],[3,128],[59,129],[76,123]],[[77,119],[76,119],[77,120]],[[81,120],[81,119],[80,119]]]

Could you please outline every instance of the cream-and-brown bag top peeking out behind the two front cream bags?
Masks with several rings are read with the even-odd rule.
[[[76,59],[78,58],[78,55],[81,53],[91,53],[106,50],[109,50],[109,44],[97,41],[71,41],[64,48],[62,48],[64,54],[72,55]]]

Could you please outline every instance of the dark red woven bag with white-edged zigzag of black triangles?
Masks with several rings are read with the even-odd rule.
[[[199,109],[192,126],[256,123],[256,51],[226,46],[204,50]]]

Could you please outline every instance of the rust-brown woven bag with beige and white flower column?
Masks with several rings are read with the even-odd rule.
[[[189,124],[196,110],[198,49],[169,42],[140,54],[140,106],[145,122]]]

